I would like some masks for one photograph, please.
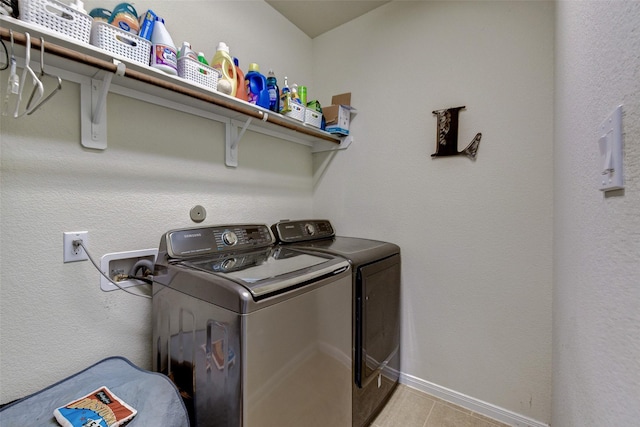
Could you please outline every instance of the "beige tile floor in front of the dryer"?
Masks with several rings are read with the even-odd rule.
[[[372,427],[508,427],[469,409],[398,385]]]

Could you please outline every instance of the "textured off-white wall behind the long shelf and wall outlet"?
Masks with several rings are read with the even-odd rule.
[[[136,2],[141,10],[144,4]],[[258,62],[311,82],[311,40],[263,2],[161,1],[153,8],[170,30],[179,22],[176,40],[209,57],[226,40],[245,69]],[[228,16],[241,16],[256,32],[247,36]],[[0,74],[3,99],[7,78]],[[195,225],[189,210],[196,204],[208,211],[204,224],[312,215],[308,147],[247,132],[240,167],[227,168],[221,124],[118,95],[107,102],[104,152],[79,143],[73,83],[64,82],[33,116],[1,118],[2,403],[110,355],[151,368],[150,302],[102,292],[89,262],[63,264],[62,232],[88,230],[99,261],[109,252],[157,248],[163,232]]]

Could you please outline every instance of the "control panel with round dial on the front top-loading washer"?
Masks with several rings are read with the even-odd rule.
[[[275,238],[263,224],[219,225],[173,230],[165,234],[171,258],[242,251],[271,246]]]

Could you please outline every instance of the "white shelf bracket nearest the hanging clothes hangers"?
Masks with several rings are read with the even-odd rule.
[[[115,75],[124,76],[126,66],[116,62]],[[102,80],[91,79],[80,84],[80,104],[82,109],[82,146],[97,150],[107,148],[107,95],[113,73],[105,73]]]

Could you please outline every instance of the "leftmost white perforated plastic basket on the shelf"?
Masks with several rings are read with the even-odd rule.
[[[20,0],[19,8],[21,20],[89,43],[93,21],[89,15],[56,0]]]

